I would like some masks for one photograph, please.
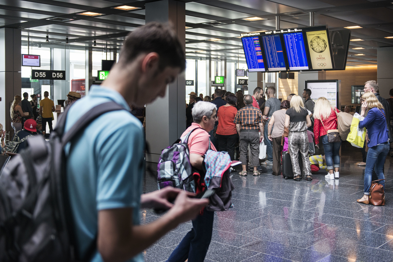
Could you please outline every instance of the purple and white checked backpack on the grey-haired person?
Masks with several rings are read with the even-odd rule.
[[[198,128],[200,127],[195,129]],[[187,145],[188,138],[195,129],[189,131],[187,135],[179,138],[171,146],[162,151],[157,165],[158,189],[172,186],[195,193],[195,181]]]

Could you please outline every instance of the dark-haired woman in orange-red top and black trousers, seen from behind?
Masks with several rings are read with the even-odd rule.
[[[236,124],[233,123],[237,113],[236,104],[236,96],[228,95],[226,105],[220,106],[217,111],[219,125],[217,126],[216,136],[219,140],[219,151],[227,151],[231,160],[234,158],[235,144],[238,137]]]

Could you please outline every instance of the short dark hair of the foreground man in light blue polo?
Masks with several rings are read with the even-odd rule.
[[[150,22],[127,35],[119,56],[119,64],[128,64],[138,55],[156,52],[160,56],[159,68],[185,69],[185,53],[179,39],[169,25]]]

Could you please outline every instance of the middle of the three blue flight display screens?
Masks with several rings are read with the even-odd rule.
[[[268,71],[285,71],[283,46],[279,35],[262,36]]]

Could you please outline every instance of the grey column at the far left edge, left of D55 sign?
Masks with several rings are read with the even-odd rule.
[[[15,95],[22,95],[21,30],[0,28],[0,123],[12,131],[9,109]]]

